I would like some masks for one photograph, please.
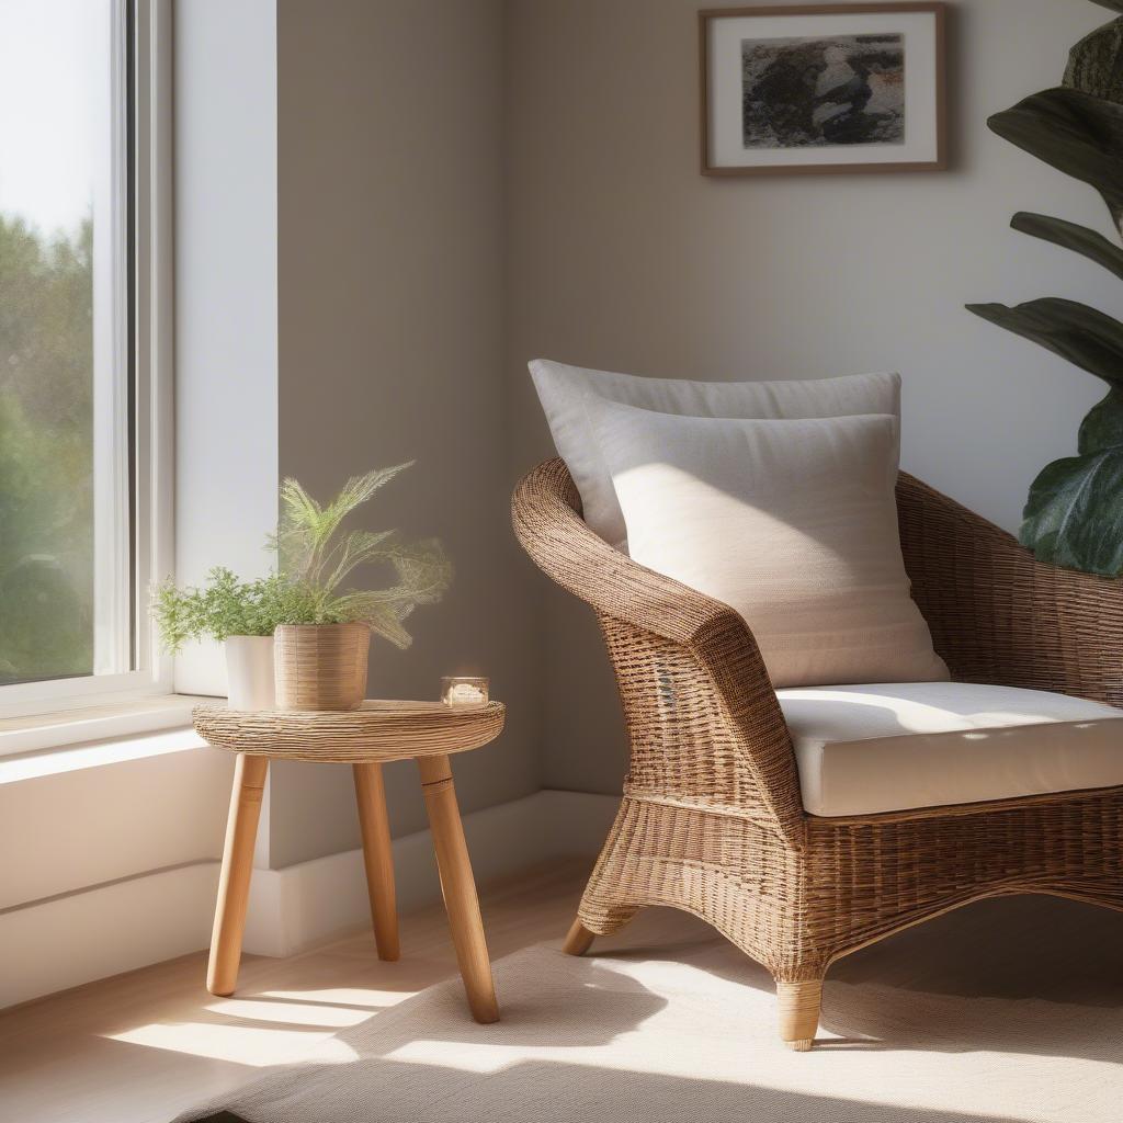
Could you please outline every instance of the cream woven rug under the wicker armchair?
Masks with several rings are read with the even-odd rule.
[[[768,974],[693,917],[495,965],[503,1020],[426,990],[182,1120],[249,1123],[1119,1123],[1123,916],[984,902],[837,964],[814,1051]]]

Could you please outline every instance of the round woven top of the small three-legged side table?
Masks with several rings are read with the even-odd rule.
[[[506,707],[368,699],[357,710],[228,710],[200,705],[195,732],[218,749],[291,760],[400,760],[465,752],[499,737]]]

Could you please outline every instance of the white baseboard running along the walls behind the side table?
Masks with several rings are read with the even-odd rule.
[[[542,791],[464,816],[472,865],[484,880],[547,858],[595,855],[619,798]],[[402,911],[440,898],[428,831],[394,840]],[[218,862],[122,878],[0,912],[0,1008],[206,948]],[[245,949],[292,955],[369,923],[362,851],[286,869],[254,870]]]

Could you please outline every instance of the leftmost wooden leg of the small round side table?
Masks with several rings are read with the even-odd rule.
[[[218,882],[210,962],[207,965],[207,989],[223,997],[234,994],[238,982],[249,877],[254,869],[254,843],[268,767],[268,757],[252,757],[245,752],[238,754],[234,765],[230,818],[226,824],[222,873]]]

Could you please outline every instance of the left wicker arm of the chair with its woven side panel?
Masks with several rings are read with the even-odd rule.
[[[511,503],[523,549],[596,609],[631,741],[628,792],[804,832],[792,741],[757,641],[729,605],[647,569],[599,538],[562,460]]]

